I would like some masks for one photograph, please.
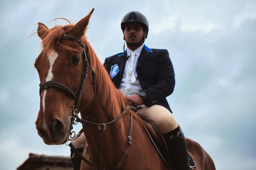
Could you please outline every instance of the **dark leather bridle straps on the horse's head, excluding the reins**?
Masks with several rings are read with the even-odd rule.
[[[69,133],[67,134],[67,138],[65,139],[65,141],[62,144],[65,144],[68,140],[69,140],[69,136],[72,133],[71,130],[73,129],[73,124],[75,124],[74,120],[76,118],[76,110],[79,106],[79,103],[81,101],[81,96],[82,96],[82,90],[83,90],[83,86],[85,83],[85,79],[87,79],[87,71],[88,71],[88,66],[90,66],[91,70],[92,70],[92,84],[94,85],[94,93],[96,91],[96,81],[95,81],[95,71],[92,68],[91,64],[90,64],[90,60],[86,55],[85,52],[85,44],[83,44],[79,39],[71,36],[71,35],[63,35],[60,39],[64,39],[64,40],[72,40],[72,41],[76,41],[77,43],[79,43],[80,46],[83,47],[83,71],[81,74],[81,79],[79,82],[79,86],[76,89],[76,91],[71,90],[70,88],[68,88],[67,86],[56,82],[56,81],[47,81],[47,82],[43,82],[42,84],[40,84],[40,89],[39,89],[39,94],[41,95],[42,91],[44,89],[47,89],[49,87],[53,87],[53,88],[58,88],[59,90],[62,90],[66,93],[68,93],[69,95],[71,95],[74,99],[75,99],[75,103],[73,106],[73,112],[72,112],[72,118],[71,118],[71,122],[70,122],[70,128],[69,128]]]

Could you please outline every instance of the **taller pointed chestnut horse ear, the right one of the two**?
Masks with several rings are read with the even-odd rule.
[[[91,18],[92,12],[94,11],[94,8],[88,15],[86,15],[83,19],[81,19],[79,22],[76,23],[72,31],[74,31],[74,34],[77,35],[77,37],[81,38],[87,29],[87,25],[89,23],[89,20]]]

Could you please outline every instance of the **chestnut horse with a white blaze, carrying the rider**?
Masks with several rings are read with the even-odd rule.
[[[41,51],[34,64],[40,79],[38,135],[47,145],[65,144],[79,121],[86,138],[81,170],[175,170],[159,157],[145,122],[127,106],[88,42],[85,32],[93,11],[76,24],[48,29],[38,23]],[[186,141],[196,169],[215,170],[200,144]]]

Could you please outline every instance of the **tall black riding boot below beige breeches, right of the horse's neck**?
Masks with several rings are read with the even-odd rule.
[[[180,128],[180,134],[177,137],[165,139],[165,141],[168,147],[170,160],[176,170],[189,170],[188,149],[182,129]]]

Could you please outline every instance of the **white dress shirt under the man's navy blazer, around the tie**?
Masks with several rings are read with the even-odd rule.
[[[133,68],[135,68],[135,69],[133,69],[133,73],[134,73],[135,78],[136,78],[136,81],[134,83],[130,82],[130,79],[128,79],[128,81],[126,81],[126,69],[127,69],[127,65],[129,63],[130,57],[126,61],[126,66],[125,66],[125,69],[124,69],[123,78],[122,78],[121,84],[119,86],[119,90],[126,97],[130,96],[130,95],[136,95],[137,93],[142,91],[141,85],[139,83],[137,71],[136,71],[136,66],[137,66],[138,58],[139,58],[139,55],[141,53],[141,50],[142,50],[143,46],[144,46],[144,44],[142,44],[139,48],[137,48],[134,51],[136,53],[135,59],[134,59],[134,65],[133,65]],[[127,54],[130,54],[132,52],[132,50],[127,48],[126,52],[127,52]]]

